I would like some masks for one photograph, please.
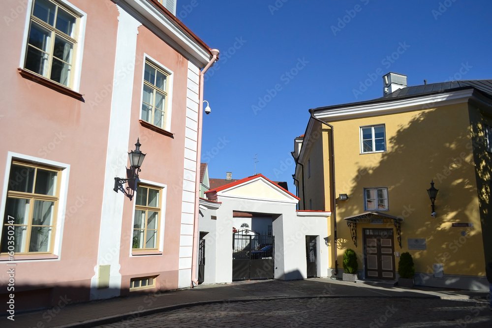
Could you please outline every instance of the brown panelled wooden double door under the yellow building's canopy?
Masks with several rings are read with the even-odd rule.
[[[367,279],[395,279],[393,229],[364,229]]]

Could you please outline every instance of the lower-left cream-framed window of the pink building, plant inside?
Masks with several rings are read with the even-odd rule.
[[[60,170],[13,161],[10,167],[1,252],[53,253]]]

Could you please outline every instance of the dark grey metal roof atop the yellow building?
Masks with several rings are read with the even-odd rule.
[[[341,105],[318,107],[318,108],[310,109],[309,112],[312,113],[318,110],[330,110],[330,109],[340,108],[344,106],[373,104],[378,102],[386,102],[386,101],[403,99],[403,98],[412,98],[422,95],[451,91],[451,90],[471,89],[471,88],[479,90],[483,92],[486,96],[492,98],[492,80],[451,81],[451,82],[432,83],[432,84],[426,84],[426,85],[415,86],[415,87],[406,87],[403,89],[398,89],[381,98],[352,102],[352,103],[341,104]]]

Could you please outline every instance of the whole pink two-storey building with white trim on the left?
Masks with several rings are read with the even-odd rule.
[[[195,280],[201,82],[218,52],[167,2],[0,1],[2,304]],[[115,192],[137,138],[139,179]]]

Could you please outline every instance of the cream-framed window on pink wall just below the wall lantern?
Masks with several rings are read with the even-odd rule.
[[[137,187],[133,221],[133,249],[156,250],[159,244],[161,189]]]

